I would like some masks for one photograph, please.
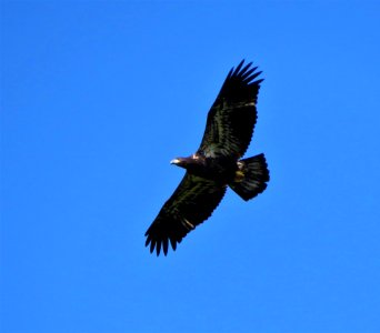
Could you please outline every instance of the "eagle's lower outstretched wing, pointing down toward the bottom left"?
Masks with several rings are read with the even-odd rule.
[[[164,203],[158,216],[146,232],[146,246],[150,252],[161,248],[168,253],[169,241],[173,250],[177,243],[198,224],[211,216],[226,193],[226,186],[188,172],[171,198]]]

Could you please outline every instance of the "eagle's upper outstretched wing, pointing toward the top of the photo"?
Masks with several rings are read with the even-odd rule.
[[[231,69],[212,104],[202,142],[198,150],[206,157],[241,158],[251,141],[257,119],[256,103],[262,79],[253,81],[261,72],[243,67],[242,60]]]

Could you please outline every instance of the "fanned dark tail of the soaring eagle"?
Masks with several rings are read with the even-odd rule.
[[[239,171],[230,188],[243,200],[248,201],[267,189],[269,170],[264,154],[240,160]]]

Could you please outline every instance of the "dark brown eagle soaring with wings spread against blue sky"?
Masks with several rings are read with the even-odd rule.
[[[197,225],[209,219],[227,188],[248,201],[263,192],[269,182],[264,154],[241,159],[257,121],[257,100],[261,71],[242,60],[228,73],[213,102],[201,144],[188,158],[170,163],[186,169],[174,193],[163,204],[146,232],[146,246],[157,255],[168,254]]]

